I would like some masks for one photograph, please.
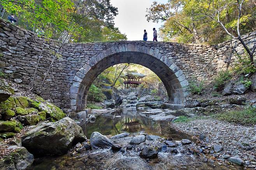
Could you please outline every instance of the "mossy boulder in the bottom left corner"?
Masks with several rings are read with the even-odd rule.
[[[29,153],[25,147],[9,146],[7,150],[11,150],[9,156],[0,160],[0,167],[3,170],[26,170],[33,161],[33,154]]]

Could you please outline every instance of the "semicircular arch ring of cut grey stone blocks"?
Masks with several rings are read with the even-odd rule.
[[[73,111],[82,111],[86,95],[95,78],[110,66],[120,63],[135,63],[151,69],[161,79],[169,97],[169,103],[184,104],[189,95],[188,80],[183,71],[158,48],[140,45],[116,45],[91,57],[77,71],[70,87],[70,105]]]

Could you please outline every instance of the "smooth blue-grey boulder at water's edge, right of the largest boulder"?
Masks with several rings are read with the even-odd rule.
[[[90,143],[91,147],[105,148],[111,147],[114,142],[108,139],[105,135],[100,134],[99,132],[93,132],[90,137]]]

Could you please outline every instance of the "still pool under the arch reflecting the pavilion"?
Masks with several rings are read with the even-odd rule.
[[[122,132],[136,133],[144,132],[161,137],[171,137],[175,141],[189,139],[191,137],[185,133],[177,132],[170,128],[168,121],[153,121],[148,117],[150,114],[143,114],[143,110],[136,108],[120,108],[113,114],[102,114],[98,116],[94,123],[82,123],[81,127],[90,137],[92,132],[100,132],[103,135],[117,135]],[[121,116],[121,117],[116,117]]]

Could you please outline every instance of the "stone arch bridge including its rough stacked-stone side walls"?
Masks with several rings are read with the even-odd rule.
[[[255,37],[255,33],[251,34],[249,38]],[[51,68],[42,97],[66,112],[81,111],[93,80],[106,68],[128,62],[151,69],[164,83],[169,102],[183,104],[189,95],[189,80],[209,82],[218,70],[232,65],[233,53],[241,49],[240,45],[234,49],[233,43],[236,42],[215,46],[144,41],[68,43],[60,49],[61,57]],[[39,88],[58,44],[0,20],[0,71],[31,86],[42,51],[34,81]]]

